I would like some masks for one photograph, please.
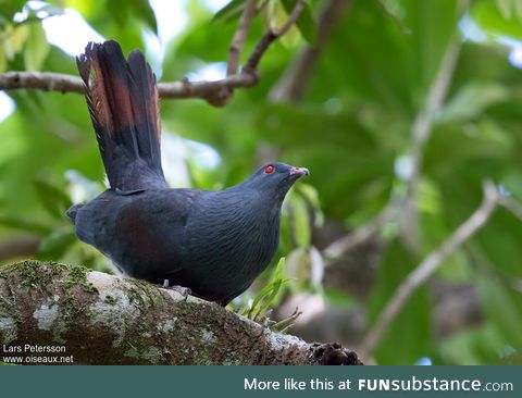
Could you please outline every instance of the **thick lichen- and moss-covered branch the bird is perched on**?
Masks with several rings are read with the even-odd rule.
[[[64,347],[41,355],[76,364],[360,364],[339,345],[274,333],[212,302],[37,261],[0,268],[0,344],[3,355]]]

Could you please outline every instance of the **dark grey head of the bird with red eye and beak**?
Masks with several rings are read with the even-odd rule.
[[[274,162],[261,166],[245,183],[249,187],[284,199],[288,189],[303,175],[310,175],[308,169]]]

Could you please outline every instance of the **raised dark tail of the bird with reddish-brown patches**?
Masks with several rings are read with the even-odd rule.
[[[126,61],[116,41],[89,42],[76,63],[111,188],[165,186],[158,87],[144,54]]]

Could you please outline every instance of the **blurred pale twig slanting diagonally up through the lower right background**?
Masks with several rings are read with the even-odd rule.
[[[373,349],[381,341],[384,333],[389,324],[399,314],[402,307],[407,303],[410,296],[421,285],[423,285],[440,263],[451,254],[460,245],[467,241],[474,233],[476,233],[492,216],[493,211],[500,203],[500,195],[495,185],[485,182],[483,186],[484,197],[481,206],[470,217],[463,222],[452,234],[446,239],[440,247],[432,251],[397,287],[388,303],[381,312],[377,321],[366,334],[360,349],[361,358],[368,358]]]

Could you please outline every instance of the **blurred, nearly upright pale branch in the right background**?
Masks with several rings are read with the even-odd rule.
[[[455,38],[446,49],[438,73],[427,92],[424,107],[417,114],[411,127],[412,148],[410,151],[410,159],[412,166],[403,200],[400,227],[405,242],[413,251],[419,247],[417,239],[417,197],[421,178],[424,147],[432,133],[434,119],[440,110],[448,92],[459,52],[460,41]]]

